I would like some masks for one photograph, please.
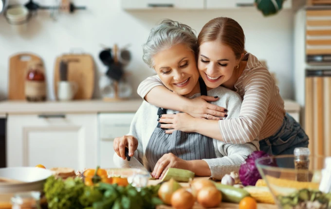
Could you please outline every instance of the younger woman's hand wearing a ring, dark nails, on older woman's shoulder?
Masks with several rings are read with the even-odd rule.
[[[190,100],[190,105],[185,108],[186,112],[194,118],[219,120],[218,117],[226,117],[227,109],[208,102],[217,101],[218,97],[200,96]]]

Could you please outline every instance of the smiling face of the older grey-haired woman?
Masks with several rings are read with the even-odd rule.
[[[153,56],[154,70],[168,89],[187,95],[196,87],[199,71],[195,54],[184,44],[177,44]]]

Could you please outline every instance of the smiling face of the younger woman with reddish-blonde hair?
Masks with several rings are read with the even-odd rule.
[[[239,64],[235,53],[221,41],[208,41],[200,45],[198,69],[207,87],[216,88],[228,81]]]

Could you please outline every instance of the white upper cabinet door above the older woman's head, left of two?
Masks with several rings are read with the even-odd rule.
[[[123,9],[203,9],[204,0],[121,0]]]

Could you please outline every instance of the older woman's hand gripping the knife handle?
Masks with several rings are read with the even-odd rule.
[[[132,157],[137,150],[138,140],[134,136],[116,137],[113,142],[113,148],[116,154],[122,159],[126,159],[125,148],[129,148],[129,156]]]

